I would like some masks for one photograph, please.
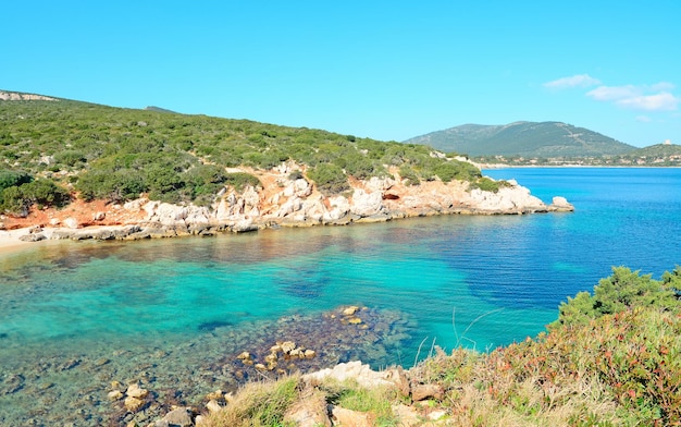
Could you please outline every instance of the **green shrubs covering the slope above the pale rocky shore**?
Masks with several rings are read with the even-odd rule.
[[[24,193],[20,197],[17,190],[10,191],[2,208],[11,212],[34,199],[63,204],[64,188],[86,200],[120,203],[146,193],[163,202],[208,206],[225,186],[259,185],[256,176],[227,173],[227,168],[264,171],[287,160],[305,166],[308,178],[325,194],[347,191],[350,176],[387,176],[392,167],[411,184],[480,178],[471,164],[434,157],[432,148],[422,145],[159,108],[0,101],[0,188],[34,179],[42,183],[41,191],[55,185],[51,199]]]

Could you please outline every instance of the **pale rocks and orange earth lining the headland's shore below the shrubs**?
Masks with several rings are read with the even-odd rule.
[[[515,181],[505,183],[497,192],[487,192],[471,190],[469,183],[460,181],[408,185],[407,180],[400,180],[396,172],[397,178],[351,180],[351,192],[327,196],[305,178],[298,178],[304,174],[297,168],[294,163],[285,163],[260,173],[264,185],[259,187],[247,186],[240,192],[224,188],[209,207],[139,198],[116,206],[119,217],[124,211],[135,218],[128,224],[83,228],[75,218],[65,218],[61,220],[61,228],[46,229],[41,234],[34,233],[24,240],[138,240],[247,232],[270,227],[376,222],[432,215],[524,215],[574,209],[565,197],[554,197],[553,203],[546,205]],[[299,173],[292,175],[292,171]],[[109,213],[97,211],[94,221],[102,221],[110,217]]]

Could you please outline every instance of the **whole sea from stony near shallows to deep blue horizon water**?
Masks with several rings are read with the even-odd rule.
[[[574,211],[55,241],[0,255],[0,425],[149,420],[276,376],[236,357],[276,341],[318,353],[282,371],[492,351],[544,331],[612,267],[658,279],[681,264],[681,169],[483,173],[546,203],[564,196]],[[153,392],[141,415],[109,398],[132,382]]]

